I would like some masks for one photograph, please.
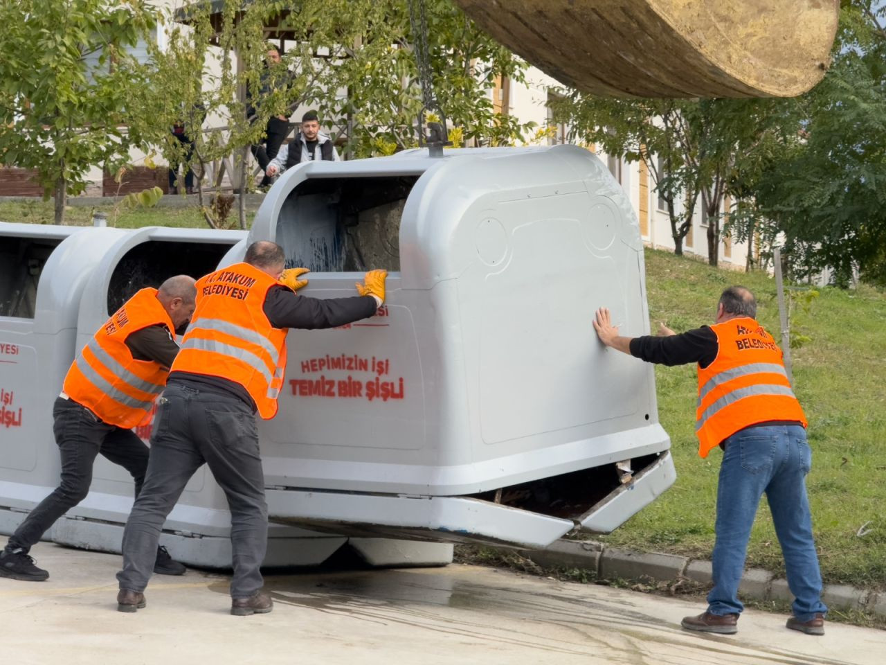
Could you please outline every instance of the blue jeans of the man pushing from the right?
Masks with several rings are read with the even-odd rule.
[[[757,426],[724,442],[717,488],[717,541],[713,552],[714,588],[708,594],[711,614],[739,614],[738,599],[750,528],[760,497],[772,511],[775,533],[794,594],[797,620],[826,613],[821,602],[819,559],[812,538],[812,514],[806,497],[806,474],[812,452],[802,426]]]

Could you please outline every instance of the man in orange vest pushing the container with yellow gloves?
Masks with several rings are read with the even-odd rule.
[[[144,607],[150,551],[185,484],[206,464],[228,498],[234,575],[231,614],[270,612],[261,562],[268,546],[255,416],[274,418],[286,371],[289,328],[334,328],[375,315],[385,270],[370,270],[358,296],[299,296],[304,268],[284,270],[283,248],[256,242],[242,263],[200,278],[197,309],[160,400],[144,489],[123,533],[117,609]]]

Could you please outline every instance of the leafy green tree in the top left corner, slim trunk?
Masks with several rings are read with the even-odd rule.
[[[64,223],[89,168],[114,171],[142,145],[128,105],[144,79],[131,49],[151,38],[142,0],[0,0],[0,163],[34,168]]]

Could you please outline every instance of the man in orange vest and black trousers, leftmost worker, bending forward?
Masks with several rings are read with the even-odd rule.
[[[0,552],[0,577],[40,582],[50,574],[28,554],[43,534],[89,493],[92,465],[101,453],[132,474],[136,497],[148,467],[148,447],[132,428],[150,417],[166,387],[183,329],[194,311],[196,287],[187,275],[145,288],[123,303],[93,335],[68,370],[52,410],[61,483],[27,515]],[[153,570],[182,575],[165,547],[152,552]]]

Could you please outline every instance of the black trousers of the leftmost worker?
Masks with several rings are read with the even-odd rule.
[[[92,465],[99,453],[132,475],[136,497],[144,484],[149,450],[131,429],[108,425],[82,404],[61,397],[55,401],[52,418],[52,431],[61,453],[61,482],[28,513],[10,537],[7,549],[20,547],[30,551],[59,517],[86,497],[92,483]]]

